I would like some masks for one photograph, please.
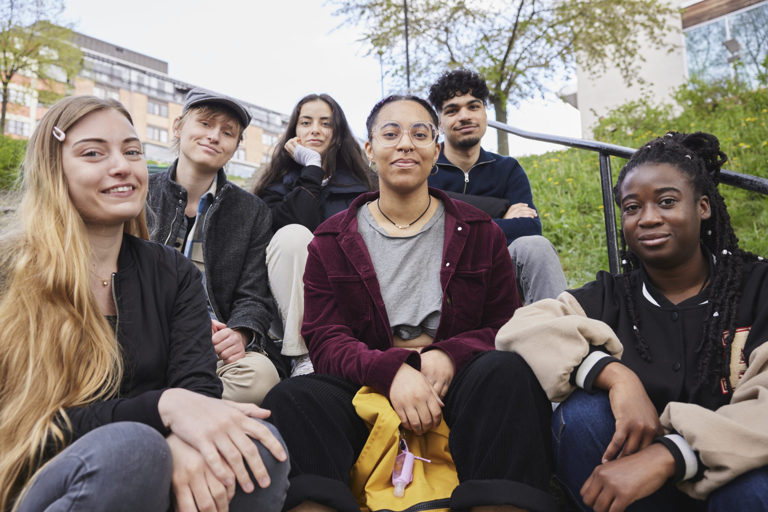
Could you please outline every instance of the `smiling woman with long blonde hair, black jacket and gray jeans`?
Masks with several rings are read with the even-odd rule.
[[[251,419],[268,411],[220,400],[200,272],[147,241],[124,107],[52,107],[22,191],[0,240],[0,510],[280,510],[285,451]]]

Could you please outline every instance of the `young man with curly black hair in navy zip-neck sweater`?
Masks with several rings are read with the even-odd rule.
[[[444,137],[429,186],[494,217],[507,236],[525,302],[554,299],[568,284],[557,250],[541,236],[528,176],[515,158],[480,146],[488,129],[488,94],[485,80],[464,69],[446,71],[429,88],[429,102],[437,111]]]

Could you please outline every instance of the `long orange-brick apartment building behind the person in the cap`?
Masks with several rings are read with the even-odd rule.
[[[147,160],[159,164],[173,162],[175,156],[169,149],[173,122],[181,114],[187,92],[198,85],[170,77],[166,61],[78,33],[74,35],[74,43],[83,51],[84,68],[66,92],[121,101],[144,141]],[[61,77],[62,82],[65,80]],[[65,93],[65,84],[57,85],[61,90],[56,92]],[[199,86],[205,87],[205,84]],[[29,137],[37,121],[48,111],[39,100],[34,77],[15,77],[9,94],[5,134]],[[253,179],[269,160],[274,144],[286,129],[288,116],[241,102],[253,114],[253,121],[226,170],[232,176]]]

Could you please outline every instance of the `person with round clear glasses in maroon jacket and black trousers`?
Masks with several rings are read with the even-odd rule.
[[[291,454],[283,510],[360,510],[349,475],[369,438],[353,407],[362,386],[415,434],[448,424],[452,510],[558,510],[551,405],[519,355],[494,350],[520,306],[506,239],[490,216],[428,187],[436,126],[419,97],[376,104],[366,155],[379,191],[309,245],[301,333],[315,373],[263,402]]]

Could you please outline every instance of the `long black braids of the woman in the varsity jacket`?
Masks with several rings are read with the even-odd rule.
[[[701,336],[697,354],[699,354],[698,375],[690,399],[705,385],[710,377],[716,378],[717,384],[724,382],[729,392],[730,386],[730,350],[733,334],[737,328],[739,310],[741,266],[746,261],[762,259],[739,248],[739,239],[733,233],[730,216],[723,196],[717,190],[720,183],[720,167],[728,160],[720,151],[720,141],[712,134],[697,131],[695,134],[680,134],[670,131],[664,137],[658,137],[644,144],[627,162],[616,180],[614,200],[620,204],[621,185],[624,178],[638,167],[645,164],[670,164],[689,178],[697,195],[707,196],[710,200],[712,215],[701,222],[701,242],[717,257],[713,276],[710,276],[710,299],[707,309],[707,322]],[[650,348],[646,344],[634,304],[634,277],[631,272],[640,268],[640,259],[627,247],[624,230],[621,230],[621,264],[624,273],[624,296],[636,329],[634,329],[635,348],[644,359],[650,361]],[[723,347],[723,332],[727,332]]]

